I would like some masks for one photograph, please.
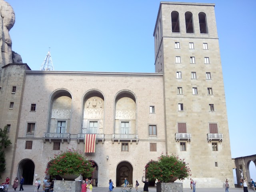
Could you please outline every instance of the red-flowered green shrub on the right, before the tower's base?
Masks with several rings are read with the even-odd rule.
[[[146,165],[146,177],[149,180],[156,178],[161,182],[173,182],[176,179],[184,180],[190,174],[188,164],[184,164],[184,159],[181,160],[179,156],[164,156],[161,154],[157,161],[151,160]],[[176,178],[176,179],[175,179]]]

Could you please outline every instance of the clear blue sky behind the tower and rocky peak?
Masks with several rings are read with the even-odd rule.
[[[32,70],[50,47],[55,70],[154,72],[158,0],[6,1],[16,14],[12,50]],[[256,0],[184,2],[216,4],[232,158],[256,154]]]

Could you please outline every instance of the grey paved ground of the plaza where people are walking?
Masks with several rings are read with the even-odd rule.
[[[17,189],[19,189],[20,186],[18,186]],[[24,191],[23,192],[34,192],[34,186],[32,185],[23,185]],[[115,187],[113,192],[122,192],[122,188]],[[10,186],[9,192],[13,191],[12,186]],[[143,188],[138,188],[137,192],[143,192]],[[156,188],[150,187],[148,188],[149,192],[156,192]],[[190,188],[184,188],[183,192],[192,192],[193,190],[190,190]],[[244,190],[242,188],[229,188],[229,192],[243,192]],[[252,189],[248,189],[249,192],[253,192]],[[17,190],[19,192],[19,190]],[[39,192],[42,192],[42,188],[39,188]],[[92,192],[108,192],[107,187],[94,187],[92,189]],[[132,192],[136,192],[135,188],[132,188]],[[225,192],[225,188],[196,188],[196,192]]]

